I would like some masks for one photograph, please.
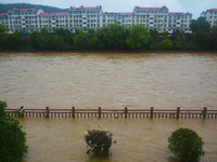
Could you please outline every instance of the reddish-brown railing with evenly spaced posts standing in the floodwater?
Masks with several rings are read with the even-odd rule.
[[[217,119],[217,110],[203,109],[25,109],[23,106],[20,109],[7,108],[5,112],[12,117],[26,118],[173,118],[173,119]]]

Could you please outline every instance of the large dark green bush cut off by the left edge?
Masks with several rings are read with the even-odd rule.
[[[25,132],[15,119],[5,114],[5,102],[0,100],[0,161],[21,162],[27,150]]]

